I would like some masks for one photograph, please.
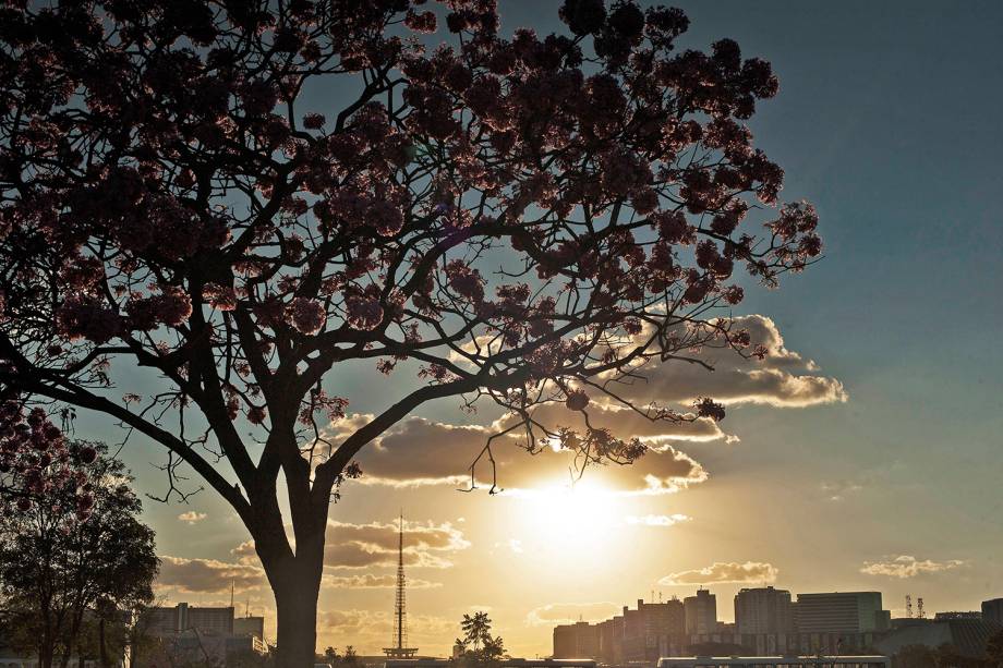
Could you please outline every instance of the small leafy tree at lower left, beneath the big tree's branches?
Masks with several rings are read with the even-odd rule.
[[[104,445],[87,447],[107,453]],[[106,457],[88,464],[86,474],[86,497],[72,484],[51,489],[47,503],[0,513],[0,596],[13,612],[10,626],[41,668],[65,667],[84,647],[87,626],[96,634],[92,658],[114,665],[121,647],[112,649],[120,643],[107,627],[122,624],[124,611],[153,599],[159,560],[153,531],[136,520],[141,503],[131,478],[121,462]],[[89,513],[83,522],[76,517],[81,498]]]

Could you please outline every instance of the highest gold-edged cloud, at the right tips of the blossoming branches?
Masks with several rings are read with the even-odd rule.
[[[652,362],[638,369],[642,377],[617,384],[617,393],[646,405],[691,403],[698,397],[711,397],[724,404],[764,404],[775,408],[805,408],[841,403],[848,398],[836,378],[818,375],[818,365],[784,345],[784,338],[771,318],[748,315],[734,318],[733,331],[746,329],[752,347],[763,345],[764,360],[746,360],[728,348],[706,345],[691,354],[693,360],[711,365],[670,360]],[[640,335],[645,336],[644,332]]]

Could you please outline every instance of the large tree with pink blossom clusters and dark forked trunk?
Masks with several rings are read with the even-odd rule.
[[[329,505],[366,444],[455,398],[579,471],[629,463],[645,445],[592,428],[590,402],[723,417],[617,384],[705,365],[706,345],[765,354],[730,326],[736,268],[774,286],[821,248],[742,124],[776,77],[734,41],[675,51],[686,16],[625,0],[566,0],[567,34],[506,38],[495,0],[451,0],[430,52],[438,17],[414,4],[0,10],[0,392],[162,447],[164,498],[184,464],[226,499],[292,668],[314,658]],[[343,98],[317,107],[324,90]],[[777,207],[759,232],[757,202]],[[360,364],[416,378],[330,441],[350,398],[329,378]],[[116,390],[123,367],[152,389]],[[553,402],[584,426],[533,418]]]

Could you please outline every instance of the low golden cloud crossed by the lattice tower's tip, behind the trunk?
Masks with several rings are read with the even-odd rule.
[[[450,557],[470,547],[463,532],[449,522],[404,521],[404,564],[414,568],[445,569],[452,566]],[[241,543],[233,550],[241,563],[259,563],[254,542]],[[365,569],[396,567],[398,560],[398,526],[396,522],[353,524],[328,520],[325,536],[324,566],[329,569]]]

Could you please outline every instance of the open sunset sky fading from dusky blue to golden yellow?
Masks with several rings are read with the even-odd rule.
[[[556,2],[500,4],[507,28],[558,28]],[[1003,596],[1003,4],[680,7],[691,19],[682,46],[732,37],[744,54],[773,63],[780,95],[760,105],[750,126],[786,169],[782,197],[812,201],[822,219],[824,260],[775,292],[748,291],[742,312],[773,318],[787,348],[838,379],[849,399],[733,409],[723,426],[740,444],[686,448],[710,472],[706,483],[618,510],[692,521],[625,534],[604,547],[608,561],[565,563],[565,578],[547,570],[561,555],[527,554],[533,538],[519,518],[535,510],[524,501],[353,487],[335,508],[339,521],[387,522],[406,505],[415,520],[448,523],[469,543],[449,552],[451,568],[415,569],[437,585],[411,598],[426,644],[445,646],[455,635],[448,620],[485,606],[512,648],[543,653],[549,628],[539,622],[561,619],[558,608],[588,617],[652,588],[688,594],[692,586],[657,582],[713,562],[768,562],[778,569],[776,585],[794,592],[880,590],[895,614],[906,593],[925,596],[930,609]],[[375,410],[385,394],[365,375],[347,385],[359,411]],[[449,413],[436,406],[425,415]],[[99,421],[82,425],[87,435],[111,434]],[[155,457],[126,453],[149,488],[161,483],[147,463]],[[179,522],[186,510],[207,519]],[[161,554],[179,558],[229,563],[246,538],[209,493],[191,508],[147,503],[147,518]],[[962,563],[908,578],[860,571],[902,556]],[[711,585],[723,619],[738,586]],[[270,605],[264,590],[246,596],[259,611]],[[392,592],[345,590],[324,602],[322,641],[371,648],[359,639],[383,628]]]

